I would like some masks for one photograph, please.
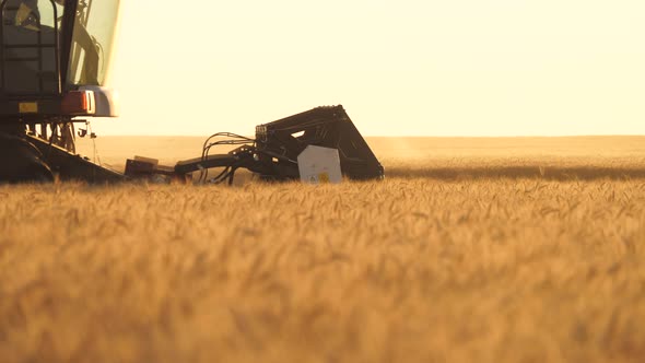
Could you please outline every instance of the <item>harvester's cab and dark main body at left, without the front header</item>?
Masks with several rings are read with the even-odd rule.
[[[106,82],[119,1],[2,0],[0,12],[0,179],[121,178],[74,143],[74,122],[117,116]]]

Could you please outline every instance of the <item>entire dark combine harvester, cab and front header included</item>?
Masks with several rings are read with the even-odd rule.
[[[161,166],[136,157],[125,174],[75,152],[75,124],[89,117],[116,117],[116,97],[106,86],[119,20],[118,0],[0,0],[0,180],[85,180],[113,183],[141,178],[233,182],[246,168],[262,179],[316,178],[303,175],[304,159],[336,154],[342,174],[383,178],[384,168],[342,108],[317,107],[256,127],[256,138],[213,134],[202,154]],[[78,130],[84,137],[86,130]],[[91,137],[94,137],[93,134]],[[236,145],[210,154],[215,145]],[[303,151],[307,150],[307,153]],[[337,162],[338,163],[338,162]],[[309,163],[310,164],[310,163]],[[218,174],[209,177],[209,169]],[[319,174],[319,182],[328,179]]]

